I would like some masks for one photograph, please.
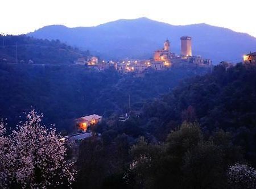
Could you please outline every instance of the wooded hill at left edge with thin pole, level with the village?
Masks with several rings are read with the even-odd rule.
[[[73,64],[89,51],[80,51],[60,40],[42,40],[26,35],[0,35],[0,62],[21,64]]]

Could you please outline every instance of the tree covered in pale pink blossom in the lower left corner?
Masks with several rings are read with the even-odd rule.
[[[73,163],[64,160],[66,148],[55,129],[41,124],[43,115],[35,110],[27,120],[5,135],[0,124],[0,186],[48,188],[71,185],[76,171]]]

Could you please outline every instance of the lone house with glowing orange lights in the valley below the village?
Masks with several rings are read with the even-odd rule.
[[[93,115],[88,115],[84,117],[80,117],[79,119],[76,119],[76,126],[77,129],[80,131],[85,132],[89,125],[95,125],[99,123],[102,120],[102,116],[93,114]]]

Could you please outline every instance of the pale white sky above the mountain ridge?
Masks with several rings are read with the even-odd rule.
[[[256,37],[256,0],[1,0],[0,33],[27,33],[51,24],[97,26],[147,17],[174,25],[207,23]]]

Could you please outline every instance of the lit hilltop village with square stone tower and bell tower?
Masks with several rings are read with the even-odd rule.
[[[97,70],[104,70],[113,66],[115,70],[122,73],[136,72],[143,73],[146,70],[166,70],[171,67],[183,65],[209,67],[212,61],[201,56],[192,56],[192,37],[180,37],[180,55],[171,52],[170,41],[164,41],[164,47],[157,49],[152,58],[148,60],[121,60],[121,61],[99,61],[97,57],[79,58],[75,61],[77,65],[86,65]]]

